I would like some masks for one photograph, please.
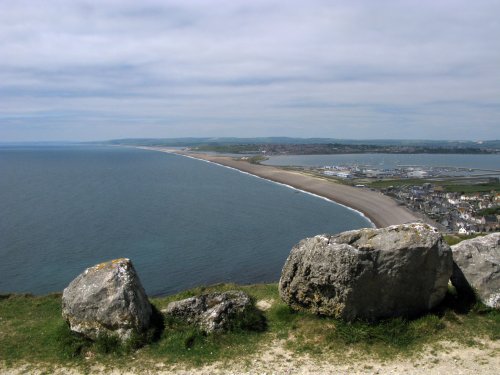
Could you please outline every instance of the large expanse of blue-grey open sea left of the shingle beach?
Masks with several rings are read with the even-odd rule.
[[[61,291],[134,262],[151,295],[279,278],[291,247],[369,226],[342,206],[237,171],[114,147],[0,148],[0,293]]]

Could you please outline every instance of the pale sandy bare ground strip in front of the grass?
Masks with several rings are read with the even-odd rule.
[[[346,353],[345,357],[334,359],[316,359],[307,355],[296,355],[277,341],[259,353],[243,360],[216,362],[210,365],[186,368],[181,365],[165,365],[158,363],[136,363],[127,359],[126,369],[90,365],[83,368],[47,368],[39,365],[22,365],[6,368],[0,364],[0,374],[179,374],[179,375],[211,375],[211,374],[276,374],[276,375],[321,375],[321,374],[485,374],[496,375],[500,369],[500,343],[498,341],[483,342],[480,347],[461,347],[454,343],[443,342],[429,347],[424,352],[412,357],[391,361],[381,361],[371,357],[353,357]]]

